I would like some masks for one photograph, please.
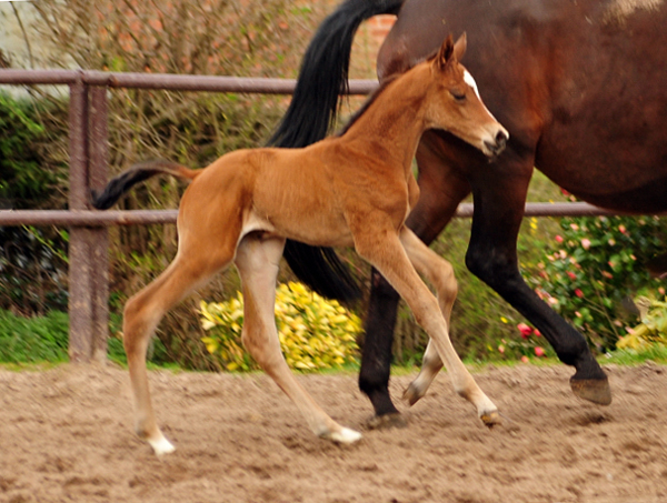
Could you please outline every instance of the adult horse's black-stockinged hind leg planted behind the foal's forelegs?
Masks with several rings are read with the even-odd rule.
[[[470,192],[468,183],[444,163],[447,157],[438,149],[438,134],[446,133],[425,133],[417,150],[421,194],[407,222],[427,244],[445,229],[458,203]],[[399,295],[375,269],[370,284],[359,388],[375,410],[370,427],[400,426],[405,422],[391,401],[388,388]]]

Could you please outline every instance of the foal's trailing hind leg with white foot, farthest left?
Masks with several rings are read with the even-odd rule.
[[[231,262],[233,248],[227,254],[220,254],[211,253],[202,244],[206,241],[199,247],[180,247],[169,268],[132,296],[125,308],[123,344],[132,384],[135,427],[137,434],[146,439],[158,455],[172,452],[175,447],[158,427],[152,410],[146,372],[146,350],[165,313]]]

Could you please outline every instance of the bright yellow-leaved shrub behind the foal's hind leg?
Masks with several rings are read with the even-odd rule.
[[[201,301],[202,338],[208,351],[229,370],[258,369],[241,343],[243,298],[222,303]],[[332,369],[356,361],[359,318],[336,301],[310,292],[300,283],[280,284],[276,295],[276,324],[287,364],[301,371]]]

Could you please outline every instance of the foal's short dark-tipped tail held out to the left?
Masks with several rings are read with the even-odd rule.
[[[163,173],[176,178],[195,180],[200,172],[200,170],[190,170],[177,162],[160,159],[139,162],[111,180],[100,194],[92,191],[92,205],[98,210],[108,210],[122,194],[137,183],[148,180],[156,174]]]

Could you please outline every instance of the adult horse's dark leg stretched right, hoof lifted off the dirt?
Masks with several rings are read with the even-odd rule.
[[[607,405],[611,402],[607,375],[593,356],[586,339],[541,301],[519,273],[517,235],[526,194],[518,193],[521,180],[495,175],[510,171],[494,169],[486,173],[484,188],[475,192],[475,215],[466,265],[537,326],[560,361],[575,366],[570,385],[576,395]],[[529,177],[526,187],[528,180]]]

